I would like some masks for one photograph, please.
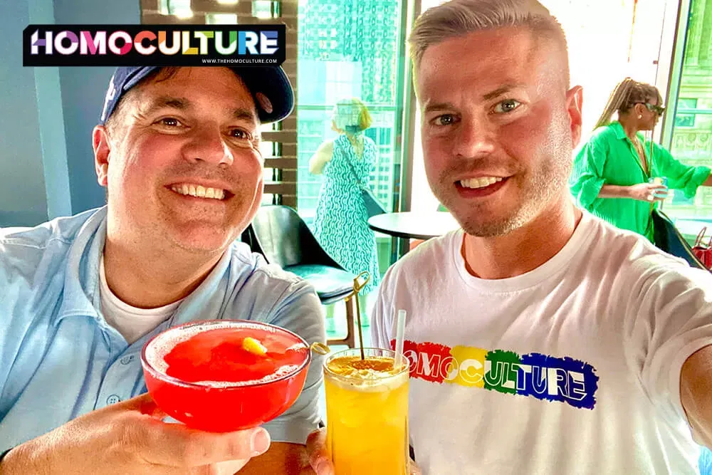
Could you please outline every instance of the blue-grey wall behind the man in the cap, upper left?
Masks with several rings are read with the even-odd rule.
[[[138,24],[139,0],[0,0],[0,226],[98,207],[91,130],[112,68],[23,68],[28,24]]]

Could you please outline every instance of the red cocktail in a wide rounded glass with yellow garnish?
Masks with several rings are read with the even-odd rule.
[[[310,360],[298,335],[248,320],[170,328],[149,340],[141,355],[156,404],[210,432],[256,427],[282,414],[299,396]]]

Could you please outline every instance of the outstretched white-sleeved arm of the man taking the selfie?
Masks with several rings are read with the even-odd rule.
[[[712,447],[712,274],[661,254],[632,266],[612,294],[627,364],[660,417]]]

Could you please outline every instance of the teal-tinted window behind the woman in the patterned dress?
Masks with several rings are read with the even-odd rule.
[[[401,157],[395,140],[401,122],[397,77],[404,61],[403,14],[400,0],[299,1],[297,199],[308,223],[323,184],[323,176],[308,172],[309,159],[323,141],[337,137],[331,115],[342,98],[360,98],[372,117],[365,132],[377,145],[372,191],[387,210],[399,199]],[[387,237],[377,243],[383,271],[390,243]]]

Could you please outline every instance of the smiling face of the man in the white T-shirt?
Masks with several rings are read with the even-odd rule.
[[[568,196],[580,88],[565,53],[528,28],[430,46],[416,71],[422,146],[436,197],[473,236],[501,236]]]

